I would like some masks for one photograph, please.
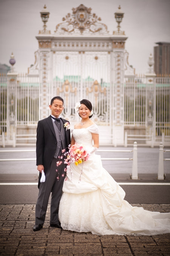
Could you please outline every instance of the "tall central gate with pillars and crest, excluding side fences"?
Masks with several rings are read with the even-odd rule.
[[[46,7],[42,14],[49,16]],[[100,20],[96,14],[91,14],[91,8],[80,5],[73,8],[72,15],[63,18],[53,35],[45,26],[36,37],[39,41],[37,61],[29,72],[35,74],[39,68],[40,119],[49,114],[44,106],[58,94],[65,101],[63,115],[74,124],[79,118],[74,112],[75,102],[87,98],[93,104],[100,142],[112,144],[114,139],[123,144],[127,37],[120,29],[109,35],[107,26]],[[128,71],[134,72],[130,66]]]

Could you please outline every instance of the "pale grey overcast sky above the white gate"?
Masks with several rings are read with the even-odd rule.
[[[110,35],[117,30],[114,13],[121,5],[121,30],[128,36],[125,49],[137,74],[148,71],[147,61],[155,42],[170,42],[170,0],[0,0],[1,64],[10,66],[11,52],[16,60],[15,71],[26,73],[34,64],[34,52],[38,49],[35,36],[43,27],[40,11],[45,4],[50,12],[47,29],[52,34],[62,17],[83,4],[101,17]]]

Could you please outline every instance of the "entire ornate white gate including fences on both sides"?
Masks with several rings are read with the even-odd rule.
[[[120,10],[117,12],[121,13]],[[125,50],[124,31],[109,35],[91,8],[73,8],[51,35],[46,30],[49,12],[41,12],[44,28],[29,74],[9,72],[1,77],[0,126],[6,144],[13,133],[36,133],[39,119],[49,115],[52,97],[64,99],[63,116],[73,126],[79,120],[74,105],[89,99],[99,126],[100,144],[124,144],[124,133],[152,135],[159,142],[170,138],[170,78],[155,77],[150,69],[134,75]],[[122,14],[122,13],[121,13]],[[148,141],[146,140],[145,143]]]

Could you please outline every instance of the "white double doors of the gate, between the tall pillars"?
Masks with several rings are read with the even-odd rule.
[[[64,114],[75,121],[76,101],[88,98],[96,121],[110,122],[110,54],[108,52],[56,52],[53,66],[53,95],[65,99]],[[57,88],[57,90],[56,90]]]

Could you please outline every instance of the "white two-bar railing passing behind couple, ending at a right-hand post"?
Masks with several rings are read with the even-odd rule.
[[[36,149],[10,149],[10,150],[0,150],[0,152],[36,152]],[[133,143],[133,150],[105,150],[98,149],[97,152],[133,152],[133,158],[101,158],[101,160],[132,160],[132,172],[130,174],[131,179],[138,179],[138,157],[137,157],[137,142]],[[3,161],[31,161],[36,160],[36,158],[14,158],[14,159],[0,159]]]

